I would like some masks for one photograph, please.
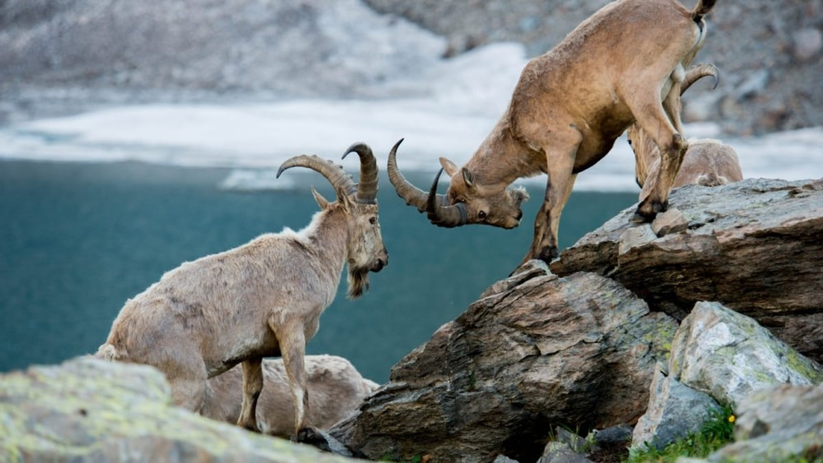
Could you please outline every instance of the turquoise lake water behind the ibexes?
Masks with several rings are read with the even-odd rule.
[[[226,191],[218,185],[227,172],[0,161],[0,372],[95,352],[123,302],[165,271],[264,232],[300,229],[318,210],[309,184]],[[302,175],[333,198],[322,177]],[[408,177],[421,186],[430,182]],[[389,265],[371,274],[370,292],[355,302],[346,300],[342,278],[307,351],[346,357],[364,376],[384,382],[394,363],[519,263],[543,191],[528,188],[532,199],[514,230],[444,229],[407,207],[387,179],[380,185]],[[636,199],[575,192],[560,223],[560,247]]]

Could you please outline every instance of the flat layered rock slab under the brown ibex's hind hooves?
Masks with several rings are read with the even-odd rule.
[[[695,302],[722,302],[823,361],[823,180],[688,185],[669,204],[685,230],[636,226],[627,208],[564,250],[552,272],[607,275],[677,319]]]

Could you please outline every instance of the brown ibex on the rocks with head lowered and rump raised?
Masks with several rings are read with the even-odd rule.
[[[576,176],[636,122],[662,147],[662,168],[635,213],[635,221],[651,220],[667,208],[686,152],[680,87],[703,44],[703,17],[712,7],[714,0],[699,0],[691,11],[677,0],[609,3],[526,64],[508,109],[465,166],[440,158],[451,176],[447,194],[436,193],[436,177],[428,193],[407,182],[398,171],[397,145],[389,156],[389,179],[435,225],[512,228],[528,195],[508,186],[546,173],[546,196],[524,260],[549,261],[557,256],[560,213]]]

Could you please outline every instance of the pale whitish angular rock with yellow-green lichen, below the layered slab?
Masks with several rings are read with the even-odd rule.
[[[814,385],[823,368],[775,338],[756,320],[718,302],[699,302],[672,342],[669,374],[737,408],[753,391],[781,383]]]

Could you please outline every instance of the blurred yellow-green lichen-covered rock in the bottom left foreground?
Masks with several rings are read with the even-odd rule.
[[[162,373],[83,357],[0,376],[0,461],[343,462],[171,405]]]

